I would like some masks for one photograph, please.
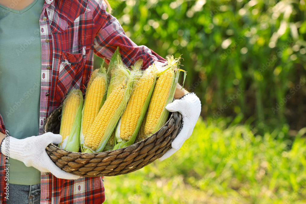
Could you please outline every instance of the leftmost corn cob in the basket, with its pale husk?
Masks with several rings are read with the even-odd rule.
[[[60,135],[62,142],[58,147],[78,152],[80,149],[79,135],[82,118],[83,95],[80,89],[72,89],[65,98],[62,107]]]

